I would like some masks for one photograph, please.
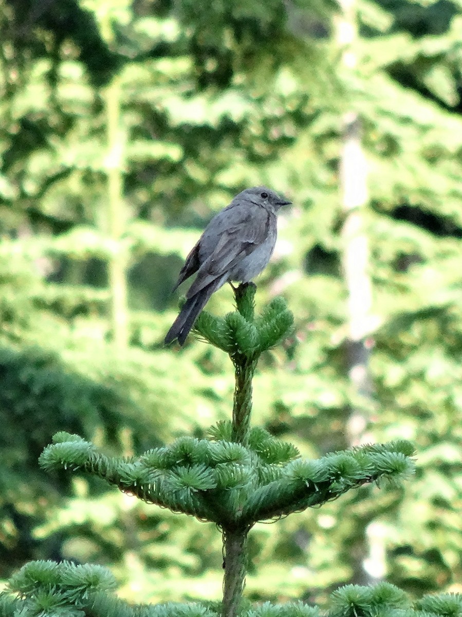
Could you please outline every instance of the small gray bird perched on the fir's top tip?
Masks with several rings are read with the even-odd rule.
[[[197,272],[186,293],[186,302],[165,336],[165,343],[178,339],[183,345],[200,311],[213,292],[226,281],[249,283],[265,268],[274,251],[276,213],[291,204],[266,186],[245,189],[218,212],[186,257],[178,286]]]

